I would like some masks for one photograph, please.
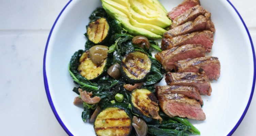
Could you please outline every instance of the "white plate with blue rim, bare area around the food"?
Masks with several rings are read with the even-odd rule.
[[[167,11],[181,0],[160,0]],[[216,33],[212,52],[219,57],[221,76],[212,95],[203,96],[205,121],[190,120],[202,136],[231,135],[249,108],[255,85],[255,54],[250,34],[233,5],[226,0],[201,0],[212,14]],[[81,119],[82,107],[73,104],[75,84],[68,73],[71,56],[84,48],[85,26],[99,0],[69,1],[55,21],[46,44],[44,81],[52,111],[68,135],[93,136],[93,125]]]

